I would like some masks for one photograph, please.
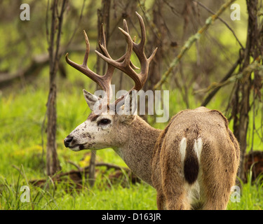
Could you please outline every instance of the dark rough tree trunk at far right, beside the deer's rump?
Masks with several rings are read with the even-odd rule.
[[[243,52],[243,62],[241,63],[239,71],[244,69],[250,64],[250,59],[257,59],[259,55],[262,55],[259,48],[259,41],[262,38],[262,31],[259,30],[257,23],[257,0],[247,0],[248,8],[248,34],[245,50]],[[261,28],[262,29],[262,28]],[[257,76],[257,71],[255,71]],[[241,160],[240,168],[238,171],[238,177],[244,180],[244,158],[247,148],[247,134],[249,124],[249,112],[250,112],[250,91],[252,90],[251,72],[245,74],[245,76],[238,80],[236,86],[236,92],[234,95],[234,106],[232,109],[232,116],[234,116],[234,134],[238,139],[241,147]],[[254,100],[254,99],[252,99]]]

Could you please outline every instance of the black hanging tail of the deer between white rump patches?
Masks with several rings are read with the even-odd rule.
[[[194,151],[194,139],[187,139],[186,155],[184,159],[184,178],[189,184],[196,181],[199,171],[199,163]]]

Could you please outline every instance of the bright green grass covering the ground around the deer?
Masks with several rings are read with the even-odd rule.
[[[156,192],[145,183],[128,183],[127,188],[112,184],[108,173],[97,174],[95,186],[76,190],[72,183],[54,184],[47,181],[42,187],[29,183],[43,179],[46,132],[42,123],[46,112],[48,78],[43,75],[34,85],[14,86],[0,95],[0,209],[157,209]],[[68,160],[81,167],[88,165],[87,151],[73,152],[65,149],[63,139],[76,125],[88,116],[88,107],[82,96],[86,77],[77,80],[59,80],[58,85],[58,155],[63,172],[74,169]],[[82,79],[83,78],[83,79]],[[88,87],[87,87],[88,89]],[[227,99],[227,96],[225,97]],[[222,99],[210,106],[221,109]],[[190,99],[192,108],[198,106]],[[221,106],[221,107],[220,107]],[[170,91],[170,115],[184,109],[180,94]],[[163,128],[166,124],[158,124]],[[43,146],[43,147],[42,147]],[[255,139],[255,146],[260,146]],[[124,162],[111,149],[97,151],[97,161],[110,162],[125,167]],[[30,202],[21,202],[21,186],[29,186]],[[229,202],[228,209],[262,209],[262,186],[244,184],[240,202]]]

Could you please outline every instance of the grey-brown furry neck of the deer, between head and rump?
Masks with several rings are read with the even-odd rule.
[[[160,133],[161,130],[151,127],[142,118],[135,116],[126,132],[128,141],[114,148],[131,171],[151,186],[151,159]]]

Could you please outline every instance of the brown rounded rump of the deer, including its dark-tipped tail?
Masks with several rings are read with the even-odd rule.
[[[159,209],[227,203],[238,157],[238,143],[222,113],[204,107],[177,113],[160,134],[152,160]]]

